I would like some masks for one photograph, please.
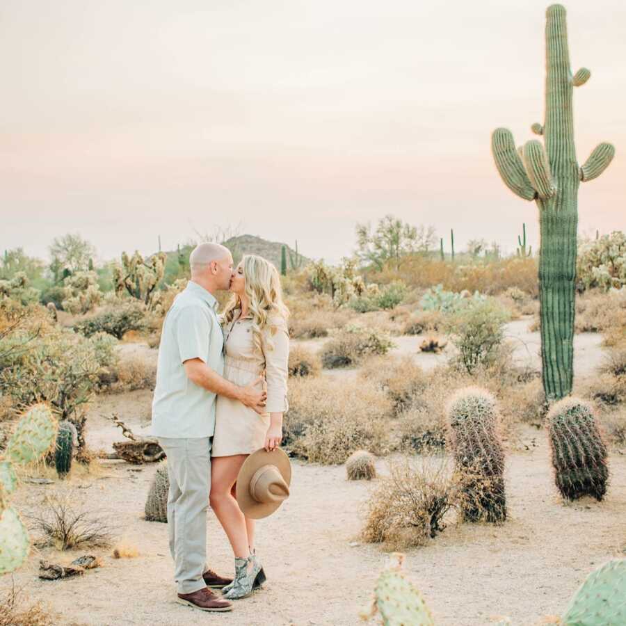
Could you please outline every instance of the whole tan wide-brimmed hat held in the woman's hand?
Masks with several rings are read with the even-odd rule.
[[[289,497],[291,463],[284,450],[264,448],[253,452],[241,465],[236,484],[239,508],[252,520],[271,515]]]

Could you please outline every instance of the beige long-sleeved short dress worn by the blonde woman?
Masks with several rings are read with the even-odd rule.
[[[252,454],[262,448],[270,425],[269,414],[285,412],[289,408],[287,322],[280,316],[269,319],[262,333],[262,354],[255,351],[251,326],[252,320],[242,319],[241,312],[236,312],[233,321],[223,326],[224,378],[245,387],[264,374],[267,382],[266,413],[259,415],[238,400],[218,396],[211,456]]]

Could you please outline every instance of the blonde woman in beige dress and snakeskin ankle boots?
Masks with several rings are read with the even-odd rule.
[[[271,451],[282,440],[282,414],[288,408],[289,310],[282,302],[278,271],[256,255],[244,256],[234,269],[230,291],[234,295],[223,313],[224,377],[246,385],[265,373],[267,383],[264,415],[225,396],[218,396],[216,405],[210,502],[235,556],[235,577],[223,595],[238,600],[262,584],[265,574],[255,554],[255,520],[241,512],[235,483],[252,452]]]

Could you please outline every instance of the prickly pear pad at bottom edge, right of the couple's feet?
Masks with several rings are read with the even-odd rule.
[[[395,565],[383,570],[374,588],[374,604],[361,614],[369,619],[380,613],[384,626],[435,626],[422,594],[402,573],[403,554],[394,554]]]

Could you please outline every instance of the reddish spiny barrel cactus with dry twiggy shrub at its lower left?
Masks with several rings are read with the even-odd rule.
[[[479,387],[465,387],[452,396],[446,412],[456,468],[463,476],[463,519],[503,522],[504,449],[495,398]]]

